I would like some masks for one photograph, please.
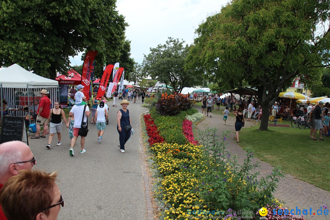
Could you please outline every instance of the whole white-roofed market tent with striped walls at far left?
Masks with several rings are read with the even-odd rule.
[[[0,71],[1,100],[5,99],[11,116],[25,116],[24,106],[40,100],[40,91],[46,89],[53,104],[58,100],[58,82],[47,79],[13,64]]]

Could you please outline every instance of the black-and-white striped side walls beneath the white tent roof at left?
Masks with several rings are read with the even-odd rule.
[[[58,86],[56,87],[47,87],[47,86],[30,86],[27,88],[2,88],[3,99],[6,100],[9,109],[20,109],[18,111],[10,111],[11,116],[25,116],[25,111],[22,111],[24,106],[30,107],[33,105],[33,93],[34,99],[40,101],[40,91],[46,89],[50,94],[51,106],[56,100],[58,100]]]

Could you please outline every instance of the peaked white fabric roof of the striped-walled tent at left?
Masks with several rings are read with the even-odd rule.
[[[17,64],[0,70],[0,82],[3,88],[26,88],[29,85],[58,85],[58,81],[31,73]]]

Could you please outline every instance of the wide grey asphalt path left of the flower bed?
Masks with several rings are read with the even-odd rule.
[[[80,137],[74,147],[74,157],[69,155],[71,139],[68,128],[62,126],[62,145],[56,146],[54,135],[51,149],[46,139],[29,139],[31,151],[37,159],[35,168],[47,172],[58,171],[58,186],[64,198],[58,219],[147,219],[146,196],[141,162],[140,115],[148,110],[141,107],[141,100],[130,101],[131,125],[135,134],[125,144],[125,153],[118,147],[119,135],[116,129],[116,114],[121,108],[113,101],[108,102],[109,124],[102,137],[97,139],[95,124],[88,117],[86,153],[80,154]]]

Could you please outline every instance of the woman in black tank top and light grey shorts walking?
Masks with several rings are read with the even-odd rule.
[[[62,119],[66,124],[66,127],[69,127],[68,122],[66,121],[65,118],[65,113],[64,111],[60,108],[60,103],[58,101],[56,101],[54,103],[55,108],[51,109],[49,111],[49,117],[48,117],[48,121],[47,124],[50,121],[50,125],[49,125],[49,138],[48,138],[48,144],[46,145],[46,147],[49,149],[50,148],[50,144],[51,141],[53,140],[53,136],[55,133],[57,133],[57,138],[58,138],[58,142],[57,142],[57,146],[61,145],[61,129],[62,129]]]

